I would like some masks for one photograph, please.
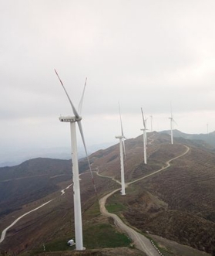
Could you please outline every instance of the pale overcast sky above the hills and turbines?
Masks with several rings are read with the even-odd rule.
[[[214,0],[0,1],[0,150],[70,145],[72,109],[86,77],[86,144],[153,130],[215,130]],[[150,129],[150,122],[148,128]],[[12,155],[11,155],[12,157]]]

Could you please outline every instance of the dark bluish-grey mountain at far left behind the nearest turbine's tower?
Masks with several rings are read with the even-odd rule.
[[[79,167],[88,169],[85,159]],[[0,168],[0,217],[59,190],[66,180],[72,183],[71,160],[37,158]]]

